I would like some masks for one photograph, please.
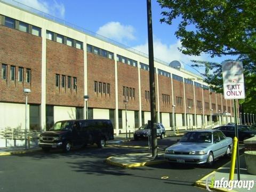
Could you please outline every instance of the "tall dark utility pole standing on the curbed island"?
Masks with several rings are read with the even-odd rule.
[[[148,16],[148,58],[149,58],[149,85],[150,85],[150,111],[151,111],[151,136],[152,136],[152,157],[157,157],[157,138],[156,138],[156,94],[155,94],[155,67],[153,50],[153,28],[151,0],[147,0]]]

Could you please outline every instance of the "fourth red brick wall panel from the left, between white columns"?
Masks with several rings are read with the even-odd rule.
[[[117,62],[117,82],[118,82],[118,108],[125,109],[123,86],[135,89],[135,99],[129,97],[127,110],[139,110],[139,75],[138,68]]]

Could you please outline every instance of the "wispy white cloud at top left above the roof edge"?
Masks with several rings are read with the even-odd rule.
[[[65,17],[65,6],[55,0],[52,4],[49,4],[44,0],[18,0],[18,2],[55,17],[60,17],[62,19]]]

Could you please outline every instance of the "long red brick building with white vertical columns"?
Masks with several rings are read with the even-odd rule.
[[[155,59],[157,121],[166,130],[234,122],[233,101],[174,63]],[[107,118],[124,133],[125,99],[128,131],[150,119],[147,55],[17,2],[0,1],[0,67],[0,128],[25,129],[25,88],[29,129]]]

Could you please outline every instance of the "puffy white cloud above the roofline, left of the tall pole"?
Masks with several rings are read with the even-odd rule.
[[[101,26],[96,33],[125,44],[135,39],[134,32],[135,29],[131,25],[111,21]]]

